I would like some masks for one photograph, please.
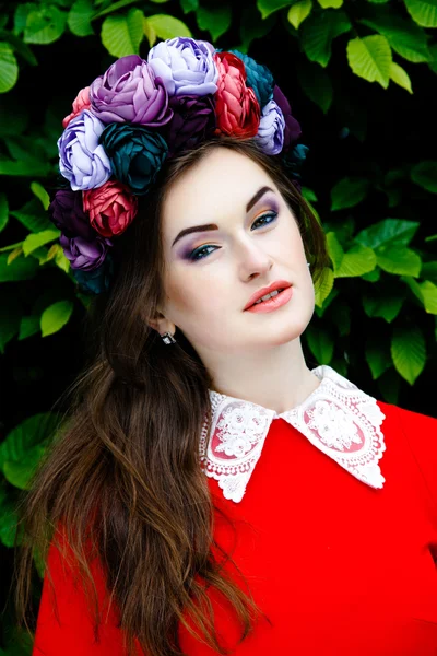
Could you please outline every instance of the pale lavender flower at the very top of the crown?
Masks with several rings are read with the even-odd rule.
[[[149,50],[147,61],[161,78],[168,95],[197,96],[217,91],[218,70],[213,60],[213,46],[204,40],[175,36]]]

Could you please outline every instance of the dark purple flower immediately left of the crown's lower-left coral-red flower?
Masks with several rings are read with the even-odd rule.
[[[48,211],[51,222],[68,237],[93,239],[95,231],[83,211],[82,191],[59,189]]]

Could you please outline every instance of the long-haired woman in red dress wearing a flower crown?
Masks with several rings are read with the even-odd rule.
[[[305,362],[329,257],[270,72],[156,48],[59,140],[51,215],[102,293],[23,513],[19,610],[50,544],[34,654],[435,655],[437,421]]]

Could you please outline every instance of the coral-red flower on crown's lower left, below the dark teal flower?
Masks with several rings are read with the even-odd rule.
[[[138,212],[138,199],[118,180],[83,192],[83,209],[90,223],[104,237],[120,235]]]

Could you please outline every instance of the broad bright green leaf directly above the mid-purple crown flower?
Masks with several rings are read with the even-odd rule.
[[[108,16],[102,24],[102,43],[114,57],[139,55],[144,36],[144,14],[131,9],[127,15]],[[149,19],[147,19],[149,21]]]

